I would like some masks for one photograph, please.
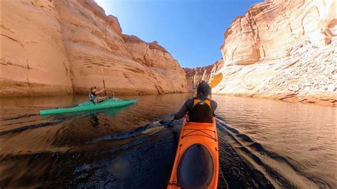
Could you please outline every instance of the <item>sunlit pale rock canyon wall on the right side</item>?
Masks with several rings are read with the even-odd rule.
[[[225,31],[213,94],[336,105],[336,23],[333,0],[255,4]]]

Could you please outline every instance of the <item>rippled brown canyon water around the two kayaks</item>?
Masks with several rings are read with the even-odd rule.
[[[41,117],[86,97],[1,100],[0,187],[166,188],[191,95],[141,96],[123,109]],[[133,97],[123,97],[133,98]],[[218,188],[336,188],[336,107],[218,102]]]

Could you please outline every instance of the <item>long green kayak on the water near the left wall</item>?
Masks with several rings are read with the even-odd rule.
[[[75,107],[40,110],[40,114],[41,115],[62,114],[62,113],[81,112],[81,111],[95,110],[95,109],[106,109],[106,108],[112,108],[112,107],[124,107],[129,104],[134,104],[136,102],[137,102],[137,99],[105,99],[104,101],[95,103],[95,104],[89,101],[89,102],[85,102],[82,104],[78,104]]]

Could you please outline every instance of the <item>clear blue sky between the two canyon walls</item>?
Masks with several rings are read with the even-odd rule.
[[[117,16],[123,33],[158,41],[181,67],[210,65],[222,55],[223,33],[258,0],[95,0]]]

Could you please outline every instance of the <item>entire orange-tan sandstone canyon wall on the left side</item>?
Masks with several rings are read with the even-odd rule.
[[[185,72],[157,42],[122,34],[93,0],[1,1],[1,96],[185,92]]]

